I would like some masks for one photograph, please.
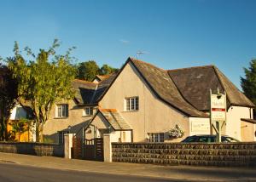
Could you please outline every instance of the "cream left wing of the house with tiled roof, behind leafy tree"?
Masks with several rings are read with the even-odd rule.
[[[49,113],[49,120],[44,124],[44,140],[63,143],[64,134],[73,133],[82,136],[83,128],[96,113],[98,99],[114,77],[115,74],[99,77],[97,82],[75,79],[73,81],[74,99],[55,103]]]

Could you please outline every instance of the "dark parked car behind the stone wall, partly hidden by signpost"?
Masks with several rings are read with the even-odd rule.
[[[186,139],[183,139],[181,142],[184,143],[190,143],[190,142],[216,142],[216,137],[217,135],[212,135],[212,134],[204,134],[204,135],[193,135],[193,136],[188,136]],[[234,139],[230,136],[223,135],[221,136],[221,141],[222,142],[240,142],[238,139]]]

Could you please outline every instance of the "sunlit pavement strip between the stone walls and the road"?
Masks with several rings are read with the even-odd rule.
[[[256,181],[256,168],[160,166],[122,162],[94,162],[53,156],[1,153],[0,162],[36,168],[55,168],[86,173],[106,173],[189,181]]]

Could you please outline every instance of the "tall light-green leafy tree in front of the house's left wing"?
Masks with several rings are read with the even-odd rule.
[[[44,123],[49,119],[49,111],[58,100],[70,100],[74,92],[72,82],[76,71],[71,65],[73,60],[69,48],[64,55],[56,54],[55,48],[60,44],[55,39],[48,50],[39,49],[37,56],[31,48],[25,52],[32,60],[26,61],[20,54],[15,42],[15,59],[9,60],[9,68],[18,81],[18,94],[23,100],[30,100],[36,126],[36,140],[43,141]],[[22,103],[20,103],[22,105]]]

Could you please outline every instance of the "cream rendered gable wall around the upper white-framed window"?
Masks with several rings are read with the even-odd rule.
[[[133,96],[139,97],[139,110],[124,111],[125,97]],[[189,117],[160,101],[131,63],[125,66],[99,105],[105,109],[117,109],[121,113],[125,121],[131,124],[135,142],[147,141],[148,133],[163,132],[166,141],[175,141],[169,138],[168,131],[176,124],[185,131],[184,137],[189,135]]]

